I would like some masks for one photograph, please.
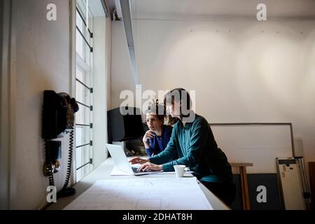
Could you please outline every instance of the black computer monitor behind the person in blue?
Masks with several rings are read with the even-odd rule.
[[[120,113],[120,107],[107,112],[109,142],[139,139],[144,136],[140,110],[134,107],[123,109],[132,113],[123,115]]]

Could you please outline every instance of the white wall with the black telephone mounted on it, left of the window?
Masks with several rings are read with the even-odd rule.
[[[55,3],[57,21],[46,20],[46,6]],[[11,77],[14,104],[10,111],[13,143],[10,151],[9,209],[38,209],[45,204],[48,186],[41,139],[43,90],[69,92],[69,1],[13,0]],[[60,189],[66,174],[69,137],[62,139],[62,169],[55,174]]]

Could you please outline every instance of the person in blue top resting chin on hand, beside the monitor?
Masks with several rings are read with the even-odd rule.
[[[173,127],[163,125],[164,120],[164,106],[155,104],[148,107],[148,110],[146,111],[146,124],[148,125],[149,130],[144,134],[142,141],[144,141],[146,154],[148,154],[149,157],[158,155],[164,151],[169,143]]]

